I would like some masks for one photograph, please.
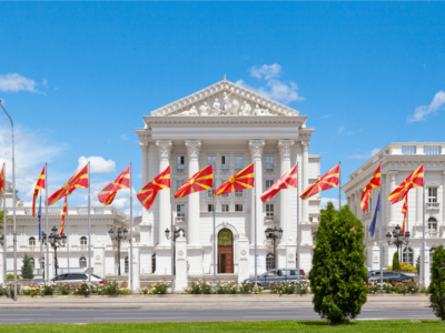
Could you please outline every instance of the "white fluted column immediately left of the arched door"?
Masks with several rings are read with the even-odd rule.
[[[201,140],[186,140],[188,153],[188,176],[192,176],[199,171],[199,151]],[[187,195],[187,224],[189,244],[199,244],[199,193]]]

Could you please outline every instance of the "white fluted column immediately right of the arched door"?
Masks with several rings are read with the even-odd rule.
[[[263,193],[263,148],[266,144],[265,140],[249,140],[249,149],[251,153],[251,162],[255,163],[255,188],[251,189],[251,223],[250,223],[250,244],[255,244],[255,200],[257,214],[257,244],[264,244],[264,216],[263,201],[259,196]],[[254,195],[255,193],[255,195]]]

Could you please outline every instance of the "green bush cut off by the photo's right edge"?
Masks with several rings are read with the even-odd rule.
[[[432,281],[429,284],[429,302],[434,313],[445,321],[445,249],[443,245],[436,248],[433,254]]]

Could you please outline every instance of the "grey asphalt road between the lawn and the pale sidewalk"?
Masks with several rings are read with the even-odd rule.
[[[318,320],[312,309],[271,310],[1,310],[0,324]],[[363,309],[358,320],[437,319],[432,309]]]

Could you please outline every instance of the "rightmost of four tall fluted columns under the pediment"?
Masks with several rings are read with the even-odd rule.
[[[280,175],[290,170],[290,149],[295,140],[278,140],[278,150],[280,157],[281,171]],[[283,229],[283,244],[295,243],[296,240],[291,239],[290,233],[290,218],[291,218],[291,203],[290,190],[279,191],[279,223]]]

